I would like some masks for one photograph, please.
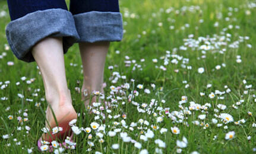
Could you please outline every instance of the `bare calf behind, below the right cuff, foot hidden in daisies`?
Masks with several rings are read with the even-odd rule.
[[[83,86],[82,86],[82,99],[85,100],[86,96],[84,91],[90,95],[93,91],[100,91],[103,93],[103,76],[106,54],[108,53],[109,42],[95,42],[95,43],[79,43],[81,59],[83,63]],[[88,98],[88,97],[87,97]],[[96,102],[96,96],[91,98],[91,102]],[[87,99],[84,104],[90,104],[90,99]]]

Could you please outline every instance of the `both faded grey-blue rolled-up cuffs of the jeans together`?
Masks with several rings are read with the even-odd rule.
[[[121,41],[122,14],[91,11],[72,15],[61,8],[46,9],[11,21],[5,33],[15,56],[34,62],[32,47],[49,36],[63,37],[64,53],[76,42]]]

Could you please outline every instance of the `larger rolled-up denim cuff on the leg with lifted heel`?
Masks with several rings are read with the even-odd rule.
[[[34,62],[31,49],[45,37],[63,37],[64,53],[80,40],[71,12],[61,8],[26,14],[11,21],[5,32],[12,52],[25,62]]]

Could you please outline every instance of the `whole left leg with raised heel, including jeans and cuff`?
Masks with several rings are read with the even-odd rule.
[[[68,121],[77,116],[65,79],[63,57],[68,47],[80,39],[74,18],[64,0],[10,0],[8,7],[12,20],[6,29],[8,43],[18,59],[36,60],[39,65],[48,102],[46,119],[50,126],[46,123],[46,127],[56,126],[53,110],[59,127],[64,127],[56,136],[62,136],[69,129]],[[50,141],[50,138],[43,134],[43,139]]]

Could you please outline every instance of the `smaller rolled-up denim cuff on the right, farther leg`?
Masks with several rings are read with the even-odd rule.
[[[78,42],[122,40],[123,26],[120,12],[90,11],[73,16],[80,36]]]

